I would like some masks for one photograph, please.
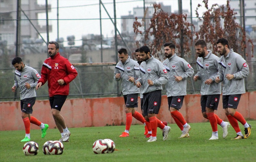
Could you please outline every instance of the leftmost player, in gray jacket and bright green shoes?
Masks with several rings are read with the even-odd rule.
[[[41,128],[44,138],[48,124],[44,124],[31,116],[33,112],[33,105],[36,102],[35,87],[37,81],[40,79],[39,73],[32,67],[26,66],[20,57],[16,57],[12,60],[12,65],[15,67],[14,85],[12,86],[12,92],[15,92],[20,87],[20,108],[21,117],[25,125],[25,138],[20,142],[30,141],[30,123],[35,124]]]

